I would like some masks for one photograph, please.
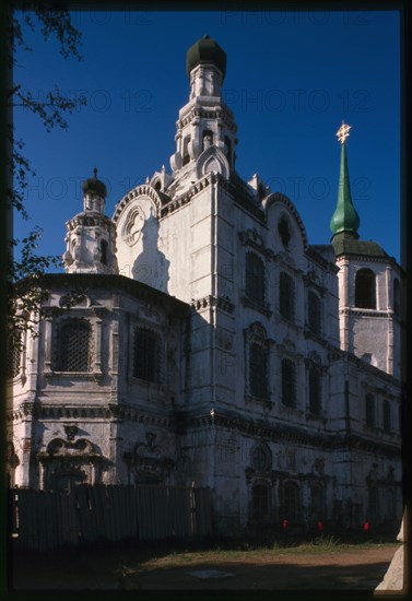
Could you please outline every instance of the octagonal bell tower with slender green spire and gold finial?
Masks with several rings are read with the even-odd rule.
[[[341,167],[330,222],[339,267],[341,349],[399,378],[402,269],[377,243],[362,240],[357,233],[361,220],[352,202],[346,157],[350,129],[342,122],[337,132]]]

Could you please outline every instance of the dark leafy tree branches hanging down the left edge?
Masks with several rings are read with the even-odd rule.
[[[73,113],[84,98],[64,96],[57,85],[45,94],[42,102],[37,101],[23,83],[17,81],[19,68],[16,52],[31,51],[27,42],[31,32],[39,32],[45,42],[55,39],[63,59],[82,60],[80,48],[82,34],[73,26],[71,15],[64,10],[54,10],[42,3],[33,10],[9,10],[7,13],[7,42],[9,83],[7,102],[10,111],[28,110],[34,118],[40,119],[47,132],[56,127],[68,127],[67,115]],[[15,138],[13,122],[10,119],[7,126],[7,142],[9,148],[7,158],[8,185],[7,204],[13,220],[30,220],[25,205],[25,193],[30,181],[35,177],[35,169],[24,155],[24,140]],[[12,222],[12,220],[10,220]],[[43,231],[34,226],[23,239],[16,239],[12,233],[8,240],[8,331],[13,332],[13,340],[21,340],[19,332],[23,329],[36,331],[35,323],[42,317],[40,305],[47,296],[42,285],[42,275],[51,266],[61,266],[59,257],[42,256],[37,254]],[[24,280],[24,294],[17,282]]]

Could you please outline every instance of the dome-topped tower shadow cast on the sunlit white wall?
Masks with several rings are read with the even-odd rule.
[[[143,282],[161,292],[167,292],[170,261],[158,250],[158,223],[151,213],[142,229],[143,249],[131,269],[133,280]]]

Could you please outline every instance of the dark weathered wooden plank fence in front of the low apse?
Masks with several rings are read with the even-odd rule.
[[[212,533],[210,488],[186,486],[79,484],[70,493],[11,488],[9,516],[19,547],[36,551]]]

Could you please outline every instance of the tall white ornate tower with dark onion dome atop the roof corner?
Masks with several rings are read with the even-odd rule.
[[[226,54],[205,35],[187,51],[189,102],[177,120],[176,152],[170,157],[172,190],[183,191],[208,173],[228,178],[234,169],[237,126],[222,98]]]

